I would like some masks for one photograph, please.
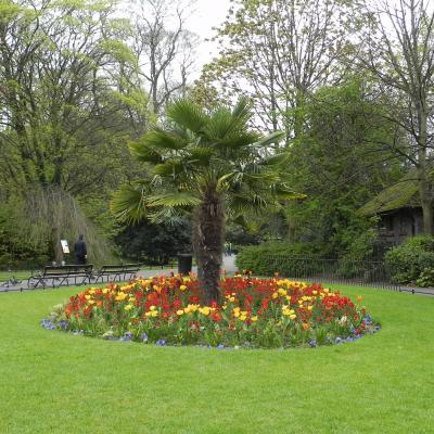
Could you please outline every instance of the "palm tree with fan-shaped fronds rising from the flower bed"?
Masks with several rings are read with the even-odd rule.
[[[277,205],[295,193],[273,166],[284,155],[269,156],[283,136],[260,137],[248,128],[251,104],[241,99],[233,110],[210,113],[178,100],[167,108],[169,127],[154,128],[130,144],[148,173],[136,186],[119,190],[112,202],[118,218],[176,222],[182,208],[193,213],[193,250],[205,303],[219,299],[226,217]]]

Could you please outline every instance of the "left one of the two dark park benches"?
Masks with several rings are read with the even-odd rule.
[[[63,266],[46,266],[43,270],[38,271],[28,279],[27,286],[36,289],[39,285],[62,286],[63,284],[84,284],[86,281],[90,283],[92,279],[93,265],[63,265]],[[51,283],[51,284],[49,284]]]

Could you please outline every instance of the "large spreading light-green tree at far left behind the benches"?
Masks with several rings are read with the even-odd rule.
[[[0,3],[0,189],[25,200],[27,225],[50,232],[58,260],[62,233],[85,221],[77,197],[122,177],[129,95],[116,80],[132,66],[113,4]]]

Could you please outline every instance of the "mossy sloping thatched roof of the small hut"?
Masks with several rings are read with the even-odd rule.
[[[431,177],[434,178],[434,168],[430,167]],[[398,182],[383,190],[378,196],[366,203],[359,213],[372,216],[405,207],[420,207],[418,174],[411,169]]]

